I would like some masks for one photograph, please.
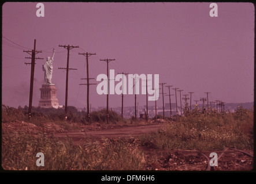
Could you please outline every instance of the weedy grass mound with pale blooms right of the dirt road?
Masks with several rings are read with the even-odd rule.
[[[157,133],[142,136],[142,144],[150,144],[164,150],[210,151],[223,150],[224,147],[253,150],[253,112],[248,111],[248,116],[239,114],[199,114],[182,117],[180,122],[165,125]]]

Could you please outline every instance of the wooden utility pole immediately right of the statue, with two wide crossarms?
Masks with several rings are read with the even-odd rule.
[[[59,47],[64,47],[68,49],[68,59],[66,62],[66,68],[58,68],[58,69],[64,69],[66,70],[66,95],[65,95],[65,120],[68,120],[68,72],[69,70],[77,70],[74,68],[69,68],[69,51],[73,48],[79,48],[78,46],[73,46],[73,45],[59,45]]]

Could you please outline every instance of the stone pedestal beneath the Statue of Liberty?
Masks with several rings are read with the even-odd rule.
[[[39,107],[41,108],[59,108],[59,102],[57,99],[57,88],[54,84],[42,85],[40,88],[41,97],[39,100]]]

